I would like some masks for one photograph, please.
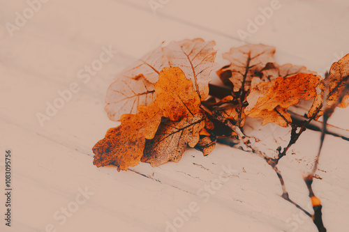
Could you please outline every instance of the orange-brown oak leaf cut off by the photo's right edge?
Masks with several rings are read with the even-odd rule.
[[[326,108],[332,107],[339,100],[341,92],[346,87],[346,84],[349,82],[349,54],[344,56],[338,62],[332,64],[331,69],[329,70],[329,75],[325,77],[320,82],[320,94],[316,96],[311,109],[309,110],[308,117],[312,117],[314,114],[315,119],[318,120],[322,116],[323,109],[322,103],[325,95],[326,84],[328,86],[327,90],[327,99],[326,99]],[[349,105],[349,93],[343,98],[338,107],[345,108]]]

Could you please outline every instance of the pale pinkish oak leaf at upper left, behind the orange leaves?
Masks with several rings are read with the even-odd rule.
[[[153,102],[154,84],[147,79],[158,79],[160,70],[167,65],[162,48],[157,47],[117,75],[105,98],[105,111],[110,120],[119,121],[123,114],[136,114],[139,105]]]

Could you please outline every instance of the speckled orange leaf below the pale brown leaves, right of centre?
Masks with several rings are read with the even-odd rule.
[[[286,109],[297,104],[300,99],[315,98],[318,83],[318,76],[303,73],[277,77],[271,82],[253,79],[253,88],[246,98],[248,106],[245,113],[252,118],[263,118],[264,125],[273,122],[285,127],[290,122],[290,114]]]

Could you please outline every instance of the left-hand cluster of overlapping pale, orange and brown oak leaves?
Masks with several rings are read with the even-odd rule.
[[[200,38],[171,42],[121,72],[107,91],[105,107],[121,125],[94,146],[97,167],[127,170],[141,160],[153,167],[179,162],[186,146],[208,153],[205,127],[211,125],[200,104],[216,68],[214,45]]]

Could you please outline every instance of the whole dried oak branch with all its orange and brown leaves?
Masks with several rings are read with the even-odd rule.
[[[217,71],[225,85],[221,88],[209,84],[209,74],[217,67],[214,45],[214,41],[200,38],[170,42],[121,72],[108,88],[105,107],[108,117],[121,121],[121,125],[108,130],[94,146],[94,164],[113,164],[118,171],[140,161],[156,167],[179,162],[187,146],[208,155],[218,139],[235,138],[273,167],[283,187],[283,198],[311,216],[319,231],[326,231],[320,200],[311,190],[315,168],[304,178],[315,212],[311,215],[289,198],[277,164],[312,120],[324,116],[325,128],[336,106],[348,107],[349,54],[334,63],[322,79],[304,66],[279,65],[274,47],[232,47],[223,54],[230,64]],[[313,98],[305,120],[292,122],[288,108],[299,100]],[[282,152],[279,148],[278,157],[269,157],[246,137],[241,130],[246,117],[262,118],[262,125],[292,127],[290,142]]]

